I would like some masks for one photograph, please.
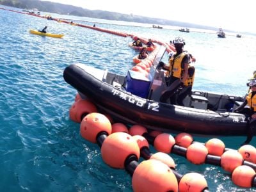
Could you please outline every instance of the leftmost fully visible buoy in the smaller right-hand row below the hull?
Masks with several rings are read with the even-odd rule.
[[[154,147],[159,152],[169,154],[172,151],[172,147],[175,144],[175,140],[172,135],[167,133],[159,134],[154,140]]]

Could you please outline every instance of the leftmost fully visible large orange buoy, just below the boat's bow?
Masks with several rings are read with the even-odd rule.
[[[80,124],[81,136],[85,140],[96,143],[99,132],[111,134],[111,123],[108,118],[100,113],[90,113],[84,116]]]

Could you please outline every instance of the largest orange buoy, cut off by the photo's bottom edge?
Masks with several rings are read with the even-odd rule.
[[[134,170],[132,189],[136,191],[178,191],[178,182],[172,170],[161,161],[142,161]]]

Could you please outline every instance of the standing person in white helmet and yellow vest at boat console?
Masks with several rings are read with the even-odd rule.
[[[169,65],[165,65],[162,61],[159,63],[160,67],[169,70],[166,84],[168,88],[160,97],[161,102],[166,102],[170,98],[171,104],[176,104],[176,93],[178,90],[184,88],[184,83],[188,78],[188,67],[190,63],[190,56],[188,52],[183,51],[185,42],[182,38],[175,38],[173,40],[176,52],[169,60]]]

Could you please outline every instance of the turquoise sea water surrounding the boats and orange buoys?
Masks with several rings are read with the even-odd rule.
[[[142,24],[144,27],[70,18],[91,20],[83,24],[97,22],[100,28],[164,42],[182,36],[185,49],[196,58],[195,90],[244,95],[247,79],[256,70],[256,38],[252,36],[236,38],[236,34],[230,34],[223,39],[215,33],[196,33],[192,29],[191,33],[180,33]],[[132,57],[138,54],[128,46],[132,39],[5,10],[0,10],[0,23],[0,190],[132,191],[130,175],[105,164],[99,147],[83,140],[79,124],[69,119],[76,90],[63,80],[64,68],[75,62],[126,74],[133,66]],[[65,34],[64,38],[29,33],[29,29],[44,26],[51,33]],[[228,148],[239,148],[245,140],[220,139]],[[205,142],[209,138],[195,140]],[[256,138],[251,144],[256,145]],[[150,150],[156,152],[152,147]],[[170,156],[177,172],[204,175],[210,191],[255,190],[237,187],[230,173],[218,166],[195,165],[184,157]]]

